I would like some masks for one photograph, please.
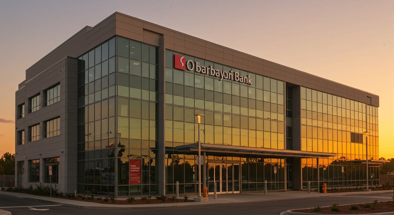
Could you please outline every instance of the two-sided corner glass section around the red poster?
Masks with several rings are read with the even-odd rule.
[[[157,194],[157,56],[156,47],[115,37],[79,58],[78,192]],[[131,159],[141,165],[137,184]]]

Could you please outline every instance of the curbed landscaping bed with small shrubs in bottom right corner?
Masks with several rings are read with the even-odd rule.
[[[375,200],[371,203],[366,204],[350,204],[340,205],[333,204],[329,207],[309,208],[309,209],[296,209],[291,210],[292,212],[298,213],[314,213],[314,214],[364,214],[364,213],[384,213],[393,212],[394,204],[393,201],[388,202],[377,202]]]

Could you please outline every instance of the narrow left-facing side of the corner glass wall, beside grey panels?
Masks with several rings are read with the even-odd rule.
[[[78,58],[78,193],[115,196],[115,41]]]

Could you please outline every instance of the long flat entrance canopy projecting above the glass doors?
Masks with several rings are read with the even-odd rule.
[[[198,143],[188,144],[184,146],[177,146],[175,148],[179,152],[195,153],[198,152]],[[284,149],[270,149],[270,148],[256,148],[246,146],[228,146],[216,144],[201,144],[201,152],[207,154],[215,154],[221,156],[269,156],[275,158],[295,157],[295,158],[323,158],[333,157],[336,153],[312,152],[312,151],[298,151],[298,150],[284,150]]]

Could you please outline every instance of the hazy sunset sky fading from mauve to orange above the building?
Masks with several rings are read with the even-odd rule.
[[[119,11],[379,95],[379,156],[394,157],[393,9],[392,0],[0,0],[0,155],[15,152],[25,70]]]

